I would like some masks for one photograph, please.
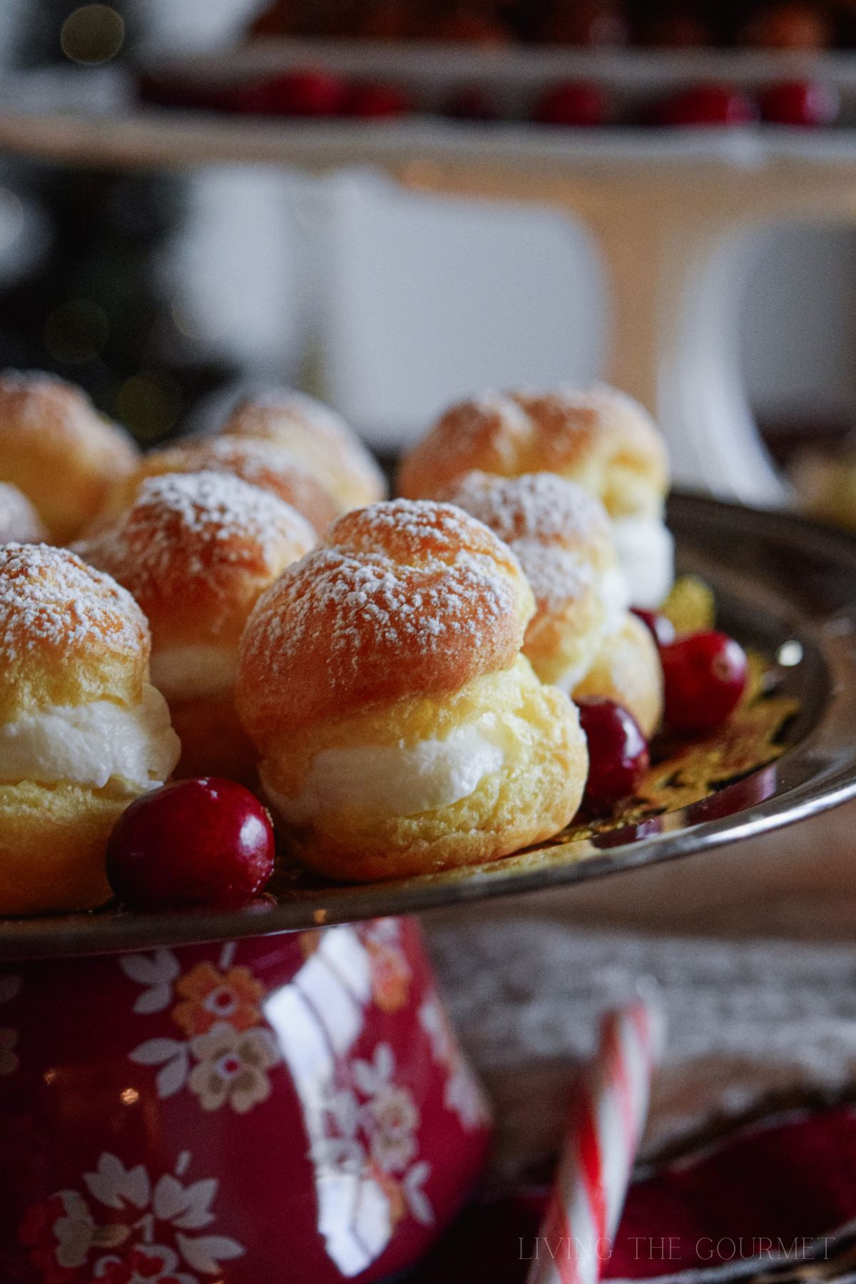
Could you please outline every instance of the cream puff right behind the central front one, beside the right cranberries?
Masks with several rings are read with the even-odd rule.
[[[444,498],[517,555],[535,596],[524,655],[570,696],[608,696],[646,736],[662,715],[662,669],[630,593],[603,505],[554,473],[468,473]]]

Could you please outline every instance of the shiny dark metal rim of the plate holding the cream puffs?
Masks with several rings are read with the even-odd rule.
[[[4,921],[0,957],[258,936],[557,887],[748,838],[856,796],[856,541],[791,514],[681,494],[671,501],[670,525],[681,569],[714,583],[723,627],[778,657],[783,690],[800,701],[775,764],[656,824],[553,842],[467,871],[364,886],[281,877],[275,896],[231,913],[108,908]]]

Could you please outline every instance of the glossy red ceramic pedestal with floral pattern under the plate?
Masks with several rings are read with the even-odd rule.
[[[0,967],[4,1284],[380,1280],[488,1140],[411,919]]]

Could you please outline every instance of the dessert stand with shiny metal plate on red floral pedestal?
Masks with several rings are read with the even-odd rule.
[[[670,520],[724,627],[798,701],[782,755],[683,810],[456,874],[284,874],[241,912],[0,923],[4,1280],[395,1275],[474,1186],[489,1120],[418,926],[393,915],[675,859],[856,796],[856,544],[712,499],[679,496]]]

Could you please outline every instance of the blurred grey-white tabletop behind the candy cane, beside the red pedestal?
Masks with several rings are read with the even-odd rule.
[[[598,931],[538,904],[426,921],[450,1014],[497,1103],[497,1181],[548,1166],[599,1013],[639,986],[669,1018],[643,1158],[856,1086],[856,945]]]

